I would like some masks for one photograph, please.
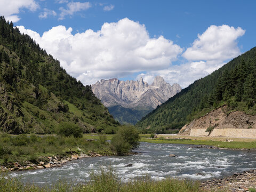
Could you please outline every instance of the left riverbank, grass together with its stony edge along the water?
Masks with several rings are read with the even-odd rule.
[[[83,157],[114,155],[107,137],[98,140],[58,135],[0,135],[0,170],[44,169]]]

